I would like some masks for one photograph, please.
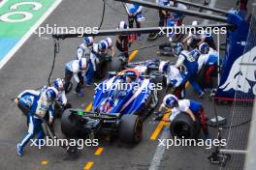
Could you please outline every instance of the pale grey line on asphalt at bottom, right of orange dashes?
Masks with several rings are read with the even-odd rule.
[[[160,139],[163,140],[163,139],[167,139],[168,137],[169,137],[169,132],[166,131],[165,127],[164,127]],[[166,147],[157,145],[155,154],[151,160],[148,170],[158,170],[159,169],[159,165],[161,163],[161,159],[162,159],[163,155],[165,154],[165,150],[166,150]]]

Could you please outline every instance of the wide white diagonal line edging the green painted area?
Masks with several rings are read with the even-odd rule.
[[[6,0],[7,1],[7,0]],[[5,64],[14,56],[16,51],[26,42],[34,31],[47,19],[48,15],[51,14],[55,8],[61,3],[62,0],[56,0],[48,11],[40,17],[40,19],[30,28],[30,30],[18,41],[16,45],[7,53],[7,55],[0,62],[0,70],[5,66]],[[5,2],[5,0],[3,1]],[[2,2],[2,3],[3,3]],[[2,4],[0,4],[1,7]]]

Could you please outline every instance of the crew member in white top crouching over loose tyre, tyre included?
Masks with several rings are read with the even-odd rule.
[[[204,139],[209,139],[206,114],[200,102],[190,99],[177,99],[176,96],[169,94],[163,99],[157,113],[158,118],[163,117],[161,113],[164,108],[172,109],[170,119],[164,121],[171,121],[170,131],[173,135],[195,138],[201,126]],[[200,126],[198,122],[200,122]]]

